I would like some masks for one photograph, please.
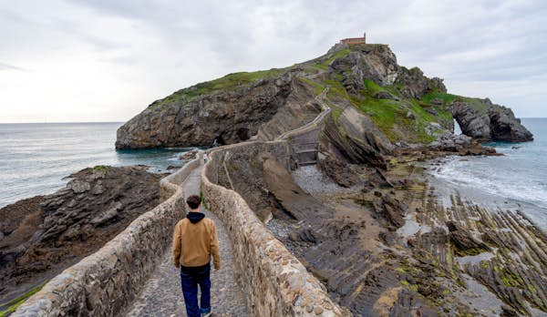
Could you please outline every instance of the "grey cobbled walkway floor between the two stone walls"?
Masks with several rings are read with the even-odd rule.
[[[203,169],[202,164],[194,169],[182,184],[187,197],[200,194],[201,169]],[[205,210],[203,206],[201,210],[216,224],[221,249],[221,270],[211,269],[212,316],[248,316],[243,302],[243,293],[233,275],[232,241],[221,220],[211,211]],[[165,252],[160,266],[129,307],[126,316],[186,316],[181,291],[181,275],[172,264],[170,248]]]

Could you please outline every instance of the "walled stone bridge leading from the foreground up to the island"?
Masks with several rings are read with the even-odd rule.
[[[330,112],[276,141],[250,141],[202,153],[160,182],[162,201],[96,253],[46,283],[14,316],[185,316],[179,272],[170,260],[171,234],[183,218],[185,197],[205,198],[203,212],[217,224],[222,269],[212,271],[215,316],[343,316],[325,286],[306,271],[258,220],[245,200],[218,185],[232,150],[265,149],[301,165],[315,164],[319,125]],[[288,162],[287,162],[288,164]],[[229,174],[226,171],[226,176]]]

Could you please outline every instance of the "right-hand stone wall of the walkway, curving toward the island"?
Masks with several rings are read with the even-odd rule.
[[[255,148],[254,148],[255,147]],[[214,182],[222,172],[226,151],[267,150],[289,164],[286,141],[245,142],[211,152],[201,173],[201,190],[209,209],[230,230],[236,279],[252,316],[343,316],[325,286],[265,228],[245,200],[232,189]],[[281,156],[281,157],[280,157]]]

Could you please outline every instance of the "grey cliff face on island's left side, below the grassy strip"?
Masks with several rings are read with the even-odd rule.
[[[297,71],[295,71],[297,72]],[[212,95],[165,98],[118,129],[116,148],[211,146],[251,138],[291,94],[294,73]]]

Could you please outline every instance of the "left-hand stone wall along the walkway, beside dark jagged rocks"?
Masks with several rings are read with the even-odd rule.
[[[100,250],[69,267],[21,305],[13,316],[117,316],[131,302],[170,246],[185,215],[181,182],[201,155],[160,181],[163,200]]]

